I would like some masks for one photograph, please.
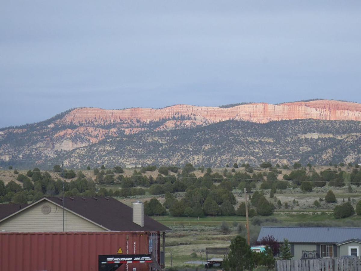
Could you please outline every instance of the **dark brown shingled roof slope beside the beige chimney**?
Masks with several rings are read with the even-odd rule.
[[[61,198],[46,198],[62,205]],[[110,231],[171,231],[170,228],[146,215],[144,216],[144,227],[133,223],[133,209],[114,198],[64,198],[64,207]]]

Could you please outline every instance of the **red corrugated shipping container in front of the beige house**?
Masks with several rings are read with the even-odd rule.
[[[98,270],[98,255],[148,254],[149,233],[0,233],[0,271]],[[148,271],[148,264],[123,264],[120,271]]]

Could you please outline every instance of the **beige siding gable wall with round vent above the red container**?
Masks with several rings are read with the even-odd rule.
[[[51,212],[43,214],[42,206],[49,205]],[[0,223],[0,231],[9,232],[61,232],[63,230],[62,208],[48,201],[41,201],[36,205],[19,212]],[[103,228],[81,218],[71,212],[64,213],[64,230],[83,232],[103,232]]]

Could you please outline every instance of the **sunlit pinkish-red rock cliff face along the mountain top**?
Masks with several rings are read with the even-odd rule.
[[[139,123],[179,117],[194,120],[194,125],[207,125],[225,120],[244,120],[258,123],[295,119],[361,121],[361,104],[334,100],[316,100],[279,105],[253,103],[231,108],[188,105],[177,105],[162,109],[105,110],[100,108],[77,108],[69,112],[58,123],[76,125],[86,123],[92,125],[119,124],[125,127],[136,127]],[[171,126],[171,123],[169,125]],[[168,129],[171,128],[169,125],[167,126]]]

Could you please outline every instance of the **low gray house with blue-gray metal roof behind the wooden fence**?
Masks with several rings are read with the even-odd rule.
[[[293,259],[302,251],[317,251],[321,257],[360,257],[361,228],[334,227],[262,227],[257,241],[273,236],[280,244],[288,239]]]

